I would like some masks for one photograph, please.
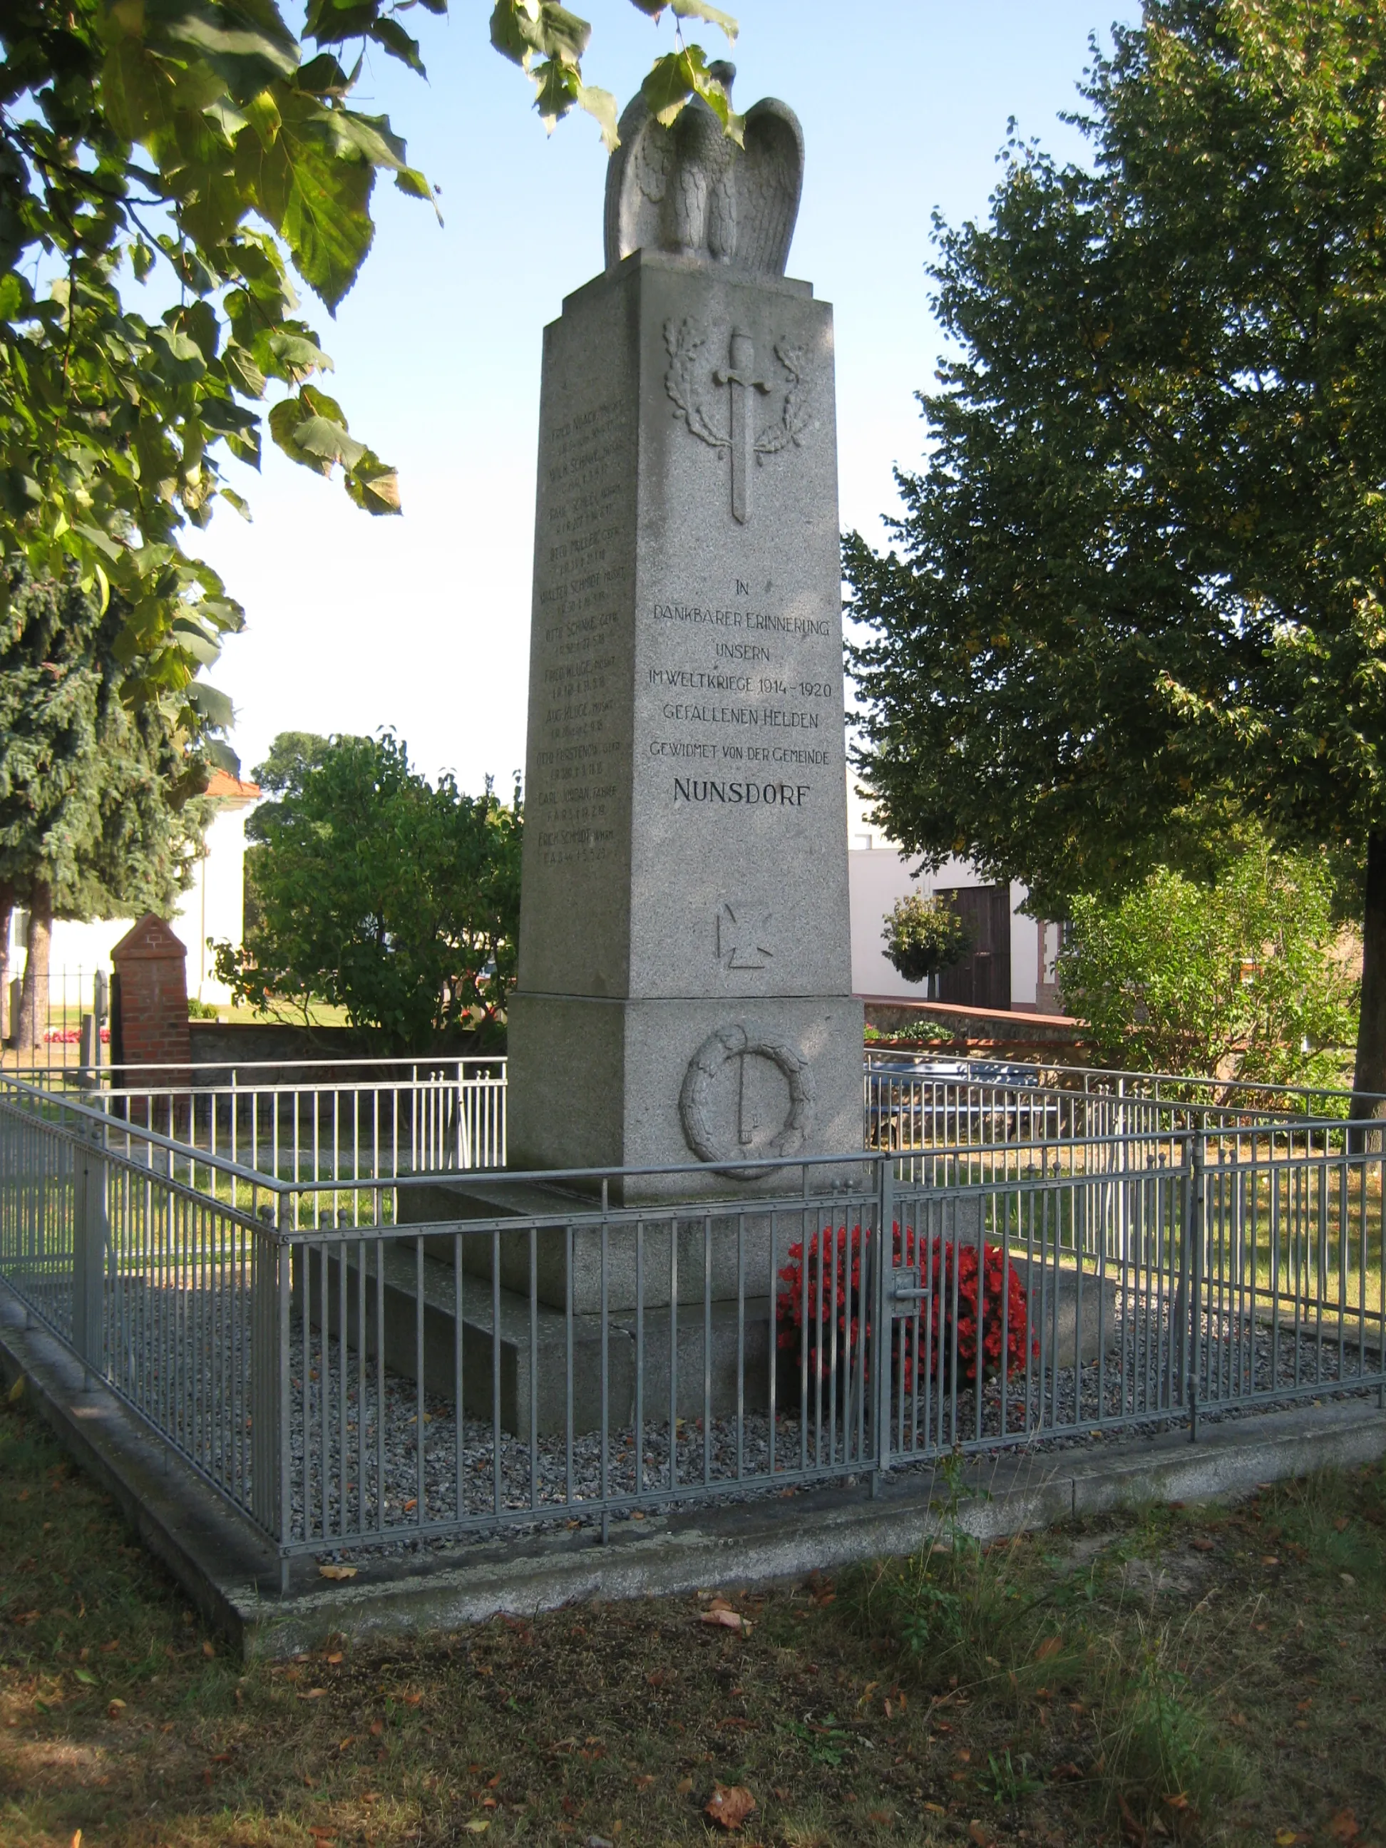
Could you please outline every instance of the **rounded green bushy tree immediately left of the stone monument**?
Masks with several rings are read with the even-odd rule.
[[[255,922],[216,948],[235,996],[344,1007],[399,1052],[492,1026],[516,979],[519,791],[431,785],[390,732],[281,734],[257,776],[281,798],[248,822]]]

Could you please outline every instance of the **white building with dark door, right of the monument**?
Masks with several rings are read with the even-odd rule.
[[[1057,1013],[1053,957],[1059,928],[1020,913],[1026,887],[989,887],[965,859],[915,876],[909,854],[870,822],[870,798],[854,774],[846,778],[846,869],[852,893],[852,992],[880,1000],[924,1000],[920,983],[906,981],[885,959],[881,930],[887,911],[907,893],[957,893],[959,909],[978,930],[978,948],[957,970],[941,978],[941,1000],[1018,1011]],[[991,967],[983,967],[991,965]]]

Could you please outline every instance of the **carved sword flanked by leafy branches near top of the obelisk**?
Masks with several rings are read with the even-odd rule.
[[[787,384],[780,418],[760,425],[756,399],[769,397],[774,386],[756,377],[756,342],[743,329],[732,329],[728,364],[711,373],[711,383],[726,388],[730,412],[726,429],[719,429],[702,407],[697,386],[697,360],[706,346],[706,333],[691,320],[665,322],[663,344],[669,351],[669,371],[663,388],[675,403],[675,414],[687,423],[699,442],[710,449],[726,449],[732,458],[732,517],[745,527],[750,521],[750,480],[758,462],[782,449],[798,447],[811,427],[809,390],[804,383],[808,360],[800,347],[787,340],[774,342]]]

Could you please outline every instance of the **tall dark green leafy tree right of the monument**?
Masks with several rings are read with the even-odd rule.
[[[906,848],[1035,909],[1249,817],[1364,920],[1386,1092],[1386,9],[1148,0],[1094,48],[1092,170],[1009,148],[939,225],[955,357],[900,551],[848,541],[863,774]]]

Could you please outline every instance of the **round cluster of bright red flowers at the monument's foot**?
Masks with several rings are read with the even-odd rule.
[[[996,1379],[1002,1371],[1002,1305],[1005,1301],[1005,1375],[1024,1368],[1029,1342],[1029,1303],[1020,1273],[1000,1246],[983,1246],[981,1260],[972,1244],[957,1246],[952,1238],[917,1238],[913,1225],[900,1231],[893,1225],[894,1266],[918,1264],[920,1286],[931,1294],[922,1299],[928,1310],[928,1369],[937,1379],[952,1368],[957,1355],[959,1379],[972,1384],[981,1362],[981,1377]],[[832,1286],[824,1277],[832,1273]],[[861,1227],[824,1227],[808,1242],[789,1247],[789,1262],[780,1271],[780,1290],[774,1303],[776,1342],[782,1353],[791,1353],[798,1364],[808,1331],[809,1375],[826,1379],[833,1364],[833,1323],[837,1327],[837,1366],[856,1356],[865,1325],[870,1340],[870,1305],[861,1301]],[[978,1353],[978,1288],[981,1288],[981,1353]],[[957,1316],[954,1321],[954,1301]],[[865,1314],[863,1314],[865,1310]],[[904,1375],[906,1392],[915,1388],[913,1321],[900,1319],[891,1331],[891,1368]],[[920,1332],[918,1347],[924,1347]],[[920,1355],[920,1364],[922,1355]]]

